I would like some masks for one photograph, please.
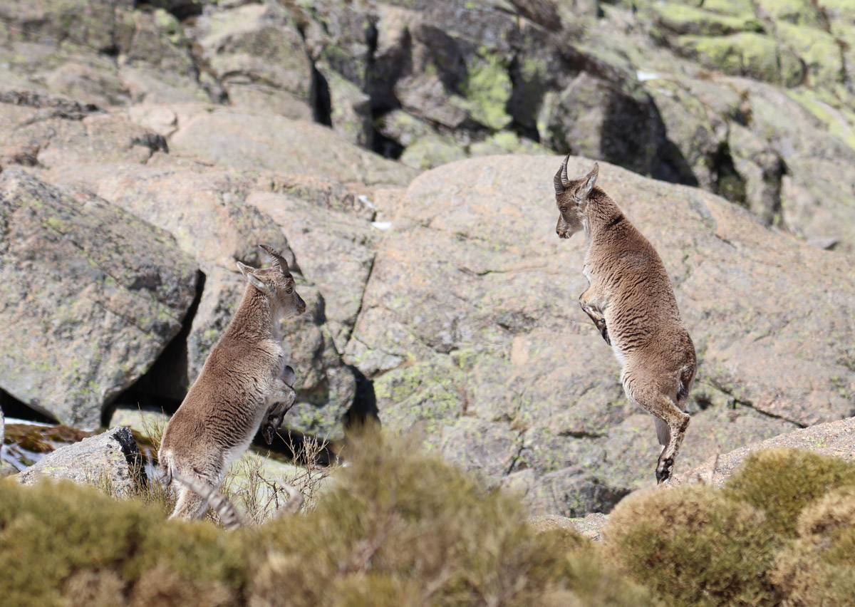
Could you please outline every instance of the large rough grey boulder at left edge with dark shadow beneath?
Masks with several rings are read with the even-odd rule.
[[[178,333],[197,268],[162,230],[101,198],[0,174],[0,386],[97,427]]]

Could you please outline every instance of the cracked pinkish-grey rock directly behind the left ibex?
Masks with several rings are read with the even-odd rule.
[[[157,379],[140,386],[157,397],[184,398],[232,320],[246,287],[235,260],[260,267],[268,259],[258,243],[280,250],[309,310],[285,325],[289,364],[299,382],[298,405],[286,424],[341,437],[340,420],[351,406],[356,380],[339,349],[356,322],[380,232],[359,218],[373,211],[351,191],[329,180],[250,170],[97,165],[56,169],[49,176],[90,188],[174,233],[204,273],[186,351],[173,364],[153,369]]]

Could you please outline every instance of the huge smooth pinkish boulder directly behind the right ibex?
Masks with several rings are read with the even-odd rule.
[[[554,233],[559,163],[489,156],[417,178],[345,360],[374,379],[384,423],[420,427],[465,467],[528,492],[535,510],[579,516],[652,482],[658,445],[576,304],[584,244]],[[571,158],[569,174],[591,166]],[[852,415],[851,259],[708,192],[605,164],[599,185],[663,257],[698,351],[679,468]]]

